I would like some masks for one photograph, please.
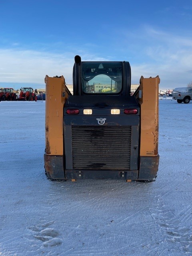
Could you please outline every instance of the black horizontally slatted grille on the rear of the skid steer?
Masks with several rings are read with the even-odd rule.
[[[130,170],[131,126],[72,126],[73,168]]]

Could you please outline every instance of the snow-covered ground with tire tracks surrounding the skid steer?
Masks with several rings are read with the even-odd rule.
[[[156,182],[52,182],[45,102],[0,102],[0,256],[191,256],[192,102],[159,100]]]

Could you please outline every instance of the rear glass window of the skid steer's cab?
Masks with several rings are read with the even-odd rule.
[[[119,94],[121,62],[82,62],[82,90],[86,94]]]

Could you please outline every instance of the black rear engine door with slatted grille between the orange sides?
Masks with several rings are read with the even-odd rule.
[[[124,114],[126,108],[135,108],[138,113]],[[78,109],[79,114],[68,114],[68,109]],[[92,114],[84,114],[86,109],[91,109]],[[112,109],[119,109],[120,114],[111,114]],[[63,122],[64,164],[71,173],[68,177],[76,172],[82,175],[84,170],[114,171],[118,175],[138,170],[139,110],[131,96],[69,96]],[[105,122],[100,123],[100,119]]]

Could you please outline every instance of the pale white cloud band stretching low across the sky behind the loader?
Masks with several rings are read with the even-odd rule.
[[[120,35],[121,34],[121,35]],[[138,83],[140,76],[160,76],[160,88],[186,86],[192,80],[192,39],[186,36],[154,29],[139,28],[134,33],[120,31],[117,42],[109,43],[108,52],[102,54],[102,47],[96,49],[89,44],[70,48],[69,52],[54,54],[51,51],[0,49],[0,82],[32,82],[44,84],[44,77],[63,75],[66,83],[72,84],[74,56],[79,54],[83,61],[128,60],[132,69],[132,83]],[[113,46],[118,45],[118,48]],[[114,51],[115,49],[115,51]],[[109,56],[109,52],[111,55]],[[118,56],[117,59],[114,59]],[[126,57],[128,56],[128,57]]]

